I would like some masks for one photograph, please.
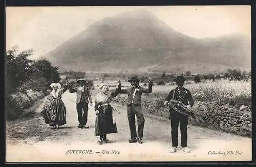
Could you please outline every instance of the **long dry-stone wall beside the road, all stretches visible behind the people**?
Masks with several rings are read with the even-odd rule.
[[[126,105],[126,99],[127,95],[118,95],[112,101],[121,102],[123,105]],[[164,107],[163,103],[164,99],[143,96],[143,113],[151,113],[169,118],[169,109]],[[193,109],[195,110],[196,119],[189,117],[190,125],[248,137],[252,135],[251,105],[237,107],[229,104],[218,104],[217,102],[195,101]]]

